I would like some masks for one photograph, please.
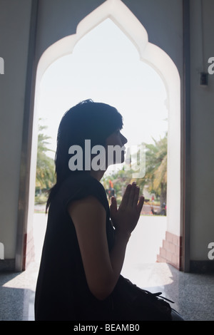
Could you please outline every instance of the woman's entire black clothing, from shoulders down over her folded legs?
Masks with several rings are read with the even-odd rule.
[[[119,276],[111,295],[103,301],[91,294],[86,282],[76,230],[68,215],[72,200],[95,196],[106,210],[108,249],[114,243],[114,228],[106,191],[91,175],[68,177],[49,208],[49,217],[36,284],[36,321],[131,321],[170,320],[170,306],[161,304],[128,279]]]

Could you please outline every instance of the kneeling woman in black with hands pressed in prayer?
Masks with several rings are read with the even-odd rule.
[[[91,140],[91,148],[122,148],[127,142],[121,134],[122,127],[123,120],[116,108],[92,100],[78,103],[61,119],[56,185],[47,202],[49,218],[36,285],[36,321],[180,318],[168,302],[121,276],[126,245],[143,207],[139,187],[135,182],[128,185],[121,205],[117,207],[116,198],[112,197],[109,207],[100,182],[107,163],[103,170],[92,168],[92,160],[96,160],[93,153],[88,169],[85,140]],[[83,151],[80,161],[78,148]],[[72,170],[71,162],[81,162],[84,168],[81,170],[80,164],[79,170]],[[114,163],[118,161],[113,160]]]

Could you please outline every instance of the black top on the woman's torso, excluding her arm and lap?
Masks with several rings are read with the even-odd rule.
[[[36,320],[99,320],[111,317],[111,297],[96,299],[88,289],[76,230],[68,215],[71,200],[95,196],[106,210],[109,250],[114,229],[106,191],[91,175],[69,177],[59,188],[49,208],[49,217],[36,285]]]

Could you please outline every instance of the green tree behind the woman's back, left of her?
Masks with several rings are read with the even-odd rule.
[[[41,119],[40,119],[41,121]],[[36,193],[49,190],[55,183],[54,160],[46,155],[49,136],[44,134],[46,125],[39,125],[37,163],[36,163]]]

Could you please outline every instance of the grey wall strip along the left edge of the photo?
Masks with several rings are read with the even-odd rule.
[[[0,242],[14,259],[31,0],[0,0]]]

